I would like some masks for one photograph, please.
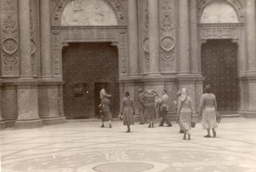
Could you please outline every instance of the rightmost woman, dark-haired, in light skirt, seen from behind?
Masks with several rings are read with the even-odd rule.
[[[202,127],[207,129],[207,135],[205,137],[211,137],[210,130],[212,129],[213,137],[216,137],[215,128],[218,127],[216,120],[217,102],[216,96],[211,93],[211,86],[206,85],[205,94],[201,95],[200,100],[200,111],[199,114],[202,116]]]

